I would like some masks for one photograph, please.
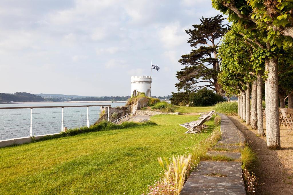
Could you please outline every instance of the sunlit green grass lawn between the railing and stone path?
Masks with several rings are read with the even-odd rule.
[[[155,115],[158,125],[1,148],[0,194],[142,194],[160,177],[158,156],[184,154],[209,135],[212,120],[207,133],[184,134],[178,124],[195,119]]]

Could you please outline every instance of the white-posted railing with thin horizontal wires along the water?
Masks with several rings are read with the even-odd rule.
[[[108,119],[108,121],[110,121],[110,118],[109,118],[109,107],[111,106],[111,105],[79,105],[79,106],[29,106],[29,107],[1,107],[0,108],[0,111],[1,110],[8,110],[8,109],[25,109],[25,108],[30,108],[30,113],[27,113],[27,114],[30,114],[30,124],[25,124],[25,125],[30,125],[30,128],[29,129],[27,129],[27,130],[30,130],[30,137],[33,137],[33,127],[37,127],[37,128],[39,128],[40,126],[42,126],[41,128],[44,128],[44,127],[47,127],[47,128],[50,128],[50,127],[53,127],[52,125],[57,125],[57,126],[54,126],[55,128],[55,130],[56,130],[56,128],[58,129],[58,126],[60,125],[61,126],[61,131],[62,132],[64,132],[64,122],[68,122],[68,121],[70,121],[70,120],[68,120],[68,121],[64,121],[64,117],[72,117],[72,116],[64,116],[63,115],[63,113],[64,113],[64,108],[73,108],[73,107],[87,107],[87,116],[86,116],[86,125],[87,125],[87,127],[89,127],[89,124],[90,124],[90,122],[89,122],[89,114],[88,114],[88,112],[89,112],[89,110],[88,110],[88,107],[93,107],[93,106],[96,106],[96,107],[98,107],[98,106],[105,106],[105,107],[108,107],[108,111],[107,111],[107,119]],[[61,121],[59,121],[59,122],[43,122],[44,124],[45,123],[49,123],[48,125],[50,125],[51,124],[51,126],[46,126],[46,125],[44,125],[44,124],[41,124],[41,123],[33,123],[33,119],[40,119],[40,118],[33,118],[33,115],[35,115],[35,114],[44,114],[44,113],[33,113],[33,109],[34,108],[62,108],[62,110],[61,110]],[[96,110],[95,110],[96,111]],[[97,110],[98,111],[98,110]],[[75,111],[71,111],[71,112],[75,112]],[[78,112],[78,111],[77,111]],[[21,113],[21,112],[20,112]],[[17,113],[17,114],[4,114],[4,115],[1,115],[0,114],[0,118],[2,119],[2,117],[11,117],[11,115],[23,115],[23,114],[20,114],[20,113]],[[53,112],[53,113],[56,113],[56,112]],[[60,112],[58,112],[58,113],[60,113]],[[70,112],[69,112],[70,113]],[[24,115],[25,115],[26,113],[24,113]],[[50,114],[50,113],[47,113],[47,114]],[[50,118],[59,118],[59,117],[47,117],[47,118],[43,118],[44,120],[45,119],[50,119]],[[23,121],[23,120],[26,120],[26,119],[17,119],[17,120],[10,120],[11,118],[8,118],[8,120],[0,120],[0,122],[2,122],[2,123],[11,123],[11,122],[16,122],[16,121]],[[91,121],[91,122],[94,122],[94,120],[97,120],[97,119],[91,119],[91,120],[93,120],[93,121]],[[77,121],[80,121],[80,120],[71,120],[71,121],[73,121],[72,123],[76,123]],[[7,125],[5,125],[4,127],[6,127],[4,130],[6,130],[6,133],[7,134],[10,134],[11,135],[11,132],[13,132],[13,128],[18,128],[18,129],[16,129],[16,132],[15,132],[15,134],[17,134],[17,131],[24,131],[25,129],[19,129],[21,126],[24,126],[23,124],[22,124],[22,122],[20,122],[19,124],[17,124],[17,125],[13,125],[13,124],[10,124],[10,125],[8,125],[8,123],[7,123]],[[57,124],[54,124],[54,123],[57,123]],[[58,125],[58,123],[59,123],[59,125]],[[81,123],[81,122],[78,122],[78,123]],[[37,125],[37,124],[41,124],[41,125]],[[13,127],[13,126],[16,126],[16,127]],[[59,126],[59,128],[60,128],[60,126]],[[2,127],[3,127],[3,125],[2,125]],[[0,127],[0,136],[2,135],[2,136],[5,136],[5,134],[2,134],[2,133],[5,133],[5,132],[1,132],[1,127]],[[7,132],[8,130],[10,130],[9,132]],[[50,130],[50,129],[49,129]],[[23,132],[24,133],[24,132]],[[44,132],[45,133],[45,132]]]

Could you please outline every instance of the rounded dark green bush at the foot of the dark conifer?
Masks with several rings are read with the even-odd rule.
[[[203,88],[190,94],[190,106],[212,106],[217,102],[226,101],[222,96],[215,94],[212,90]]]

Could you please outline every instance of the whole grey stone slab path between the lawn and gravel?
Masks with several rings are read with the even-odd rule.
[[[201,161],[180,194],[246,194],[239,151],[243,148],[244,136],[226,115],[219,115],[222,138],[207,155],[225,156],[231,161]]]

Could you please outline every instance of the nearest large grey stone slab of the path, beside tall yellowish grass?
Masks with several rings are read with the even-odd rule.
[[[241,180],[241,163],[202,161],[199,167],[198,171],[191,173],[180,192],[181,195],[246,194],[243,180]]]

